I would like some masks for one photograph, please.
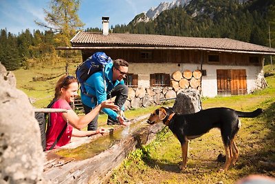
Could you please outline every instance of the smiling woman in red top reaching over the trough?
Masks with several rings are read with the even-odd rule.
[[[105,130],[102,127],[98,128],[98,130],[90,131],[81,131],[80,129],[87,126],[87,124],[98,115],[102,108],[119,110],[119,107],[109,100],[100,103],[100,105],[96,106],[85,116],[78,116],[69,105],[69,103],[74,102],[76,96],[78,96],[78,81],[76,78],[74,76],[62,76],[56,83],[52,108],[66,109],[67,112],[52,112],[50,114],[51,122],[48,123],[46,133],[46,150],[52,150],[53,148],[67,145],[67,143],[71,141],[72,136],[91,136],[98,133],[104,134]],[[65,127],[66,124],[67,127]],[[57,143],[54,143],[64,127],[66,129],[61,135],[61,138]]]

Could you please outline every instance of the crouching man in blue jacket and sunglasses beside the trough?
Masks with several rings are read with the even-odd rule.
[[[85,114],[89,113],[96,105],[115,96],[115,105],[120,107],[120,112],[115,112],[109,108],[102,111],[108,114],[108,125],[121,124],[129,125],[124,117],[124,103],[128,97],[128,87],[124,85],[124,78],[128,74],[129,63],[124,59],[116,59],[113,63],[108,63],[104,67],[104,72],[96,72],[89,76],[84,83],[85,92],[81,92],[81,101]],[[98,116],[89,123],[88,130],[98,128]]]

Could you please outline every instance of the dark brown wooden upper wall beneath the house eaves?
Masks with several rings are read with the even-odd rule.
[[[83,61],[94,52],[105,52],[112,59],[125,59],[129,63],[203,63],[209,65],[261,65],[263,56],[201,50],[83,50]],[[142,59],[142,52],[151,52],[151,59]],[[218,55],[219,62],[208,62],[209,55]],[[250,63],[250,57],[259,57],[259,63]]]

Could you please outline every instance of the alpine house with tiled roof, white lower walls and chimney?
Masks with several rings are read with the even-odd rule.
[[[133,88],[170,86],[174,72],[199,70],[202,96],[250,94],[265,87],[264,57],[275,55],[274,48],[234,39],[103,32],[78,32],[72,48],[63,49],[81,50],[83,61],[97,51],[125,59],[126,83]]]

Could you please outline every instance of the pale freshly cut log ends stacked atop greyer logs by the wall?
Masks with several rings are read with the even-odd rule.
[[[175,92],[180,89],[196,89],[201,90],[201,71],[184,70],[184,72],[176,71],[172,74],[170,85]]]

